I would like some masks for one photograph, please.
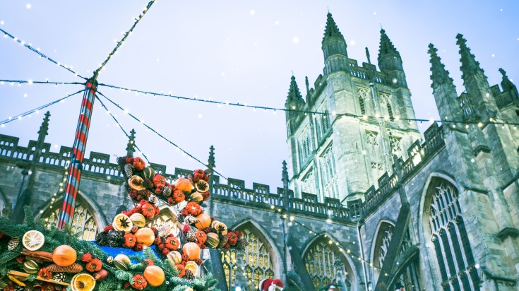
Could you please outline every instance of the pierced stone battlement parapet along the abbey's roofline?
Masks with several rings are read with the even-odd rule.
[[[410,158],[402,164],[404,179],[414,172],[422,162],[429,160],[436,150],[443,146],[443,136],[441,127],[432,124],[424,133],[425,141],[420,144],[418,141],[407,150]],[[23,147],[18,145],[19,138],[0,134],[0,162],[11,162],[13,165],[19,161],[32,161],[35,146]],[[29,141],[29,145],[35,145],[34,141]],[[50,144],[44,143],[40,160],[37,165],[53,170],[64,170],[70,160],[71,148],[61,146],[59,153],[49,151]],[[150,167],[162,174],[167,182],[172,183],[179,177],[187,177],[192,170],[175,168],[173,174],[168,174],[165,165],[150,162]],[[123,182],[123,175],[119,171],[119,166],[109,162],[109,155],[104,153],[91,152],[89,158],[83,160],[83,174],[98,177],[109,182]],[[314,216],[316,218],[340,220],[353,222],[365,216],[390,196],[394,191],[396,176],[388,176],[388,173],[378,179],[379,188],[371,186],[364,194],[365,201],[362,206],[352,203],[348,208],[343,206],[338,199],[326,198],[324,203],[318,202],[314,194],[302,193],[302,198],[294,198],[292,190],[289,191],[288,210],[291,213],[300,213]],[[244,180],[229,178],[227,184],[220,183],[220,177],[213,179],[213,198],[220,201],[232,201],[241,203],[248,207],[275,210],[283,208],[283,189],[277,188],[275,193],[270,193],[270,186],[266,184],[253,183],[252,189],[246,189]]]

